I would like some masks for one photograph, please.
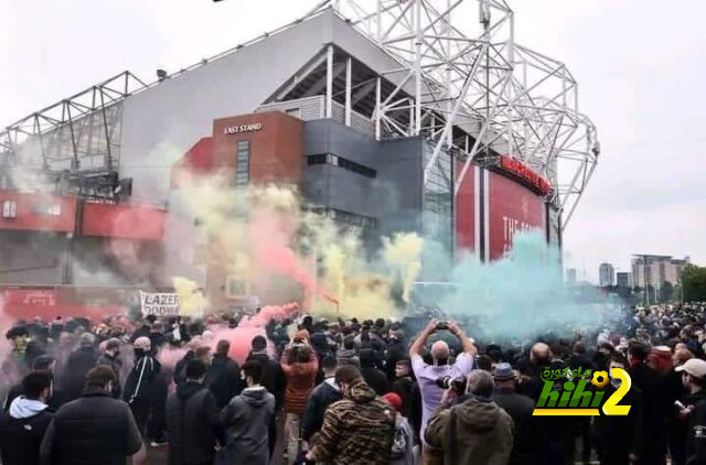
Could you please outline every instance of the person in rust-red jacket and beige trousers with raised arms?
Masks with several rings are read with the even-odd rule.
[[[285,390],[285,437],[287,439],[287,459],[293,463],[299,453],[301,442],[301,415],[307,407],[307,399],[314,388],[319,359],[309,346],[306,331],[292,337],[281,358],[282,369],[287,376]]]

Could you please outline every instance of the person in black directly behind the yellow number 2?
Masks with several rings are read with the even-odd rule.
[[[628,359],[620,353],[613,353],[609,368],[627,370]],[[620,379],[612,377],[603,390],[603,399],[608,399],[616,392],[620,385]],[[620,403],[630,405],[630,413],[627,417],[600,415],[593,419],[596,452],[601,465],[627,464],[631,461],[640,463],[640,454],[644,448],[642,391],[633,385]]]

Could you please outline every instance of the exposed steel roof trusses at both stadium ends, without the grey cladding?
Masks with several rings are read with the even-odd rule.
[[[323,116],[341,116],[377,139],[424,137],[435,144],[425,183],[442,151],[464,161],[456,193],[471,161],[517,159],[550,182],[548,201],[563,213],[565,229],[598,162],[596,127],[579,112],[568,68],[515,43],[504,0],[325,0],[291,24],[169,77],[328,9],[395,65],[373,71],[328,44],[263,104],[324,96]],[[478,22],[470,21],[474,17]],[[117,171],[122,100],[157,84],[125,72],[23,118],[0,132],[0,165],[82,175]]]

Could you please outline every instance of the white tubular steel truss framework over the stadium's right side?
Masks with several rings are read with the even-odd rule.
[[[442,150],[471,161],[498,154],[522,161],[552,184],[548,202],[566,228],[596,169],[597,131],[579,112],[578,84],[566,65],[514,41],[514,14],[504,0],[327,0],[399,66],[399,84],[381,95],[373,119],[386,133],[435,141],[425,182]],[[478,21],[471,21],[475,15]],[[474,29],[473,25],[477,25]],[[413,84],[414,91],[403,91]],[[399,113],[408,125],[399,123]]]

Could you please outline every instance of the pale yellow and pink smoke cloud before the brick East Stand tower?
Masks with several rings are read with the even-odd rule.
[[[403,299],[409,302],[409,291],[421,269],[422,240],[417,235],[383,239],[381,257],[368,260],[357,233],[342,230],[332,218],[304,209],[293,186],[235,188],[227,176],[217,175],[189,181],[180,188],[190,215],[208,236],[210,267],[247,280],[253,292],[277,278],[258,263],[257,253],[278,248],[289,250],[298,270],[314,282],[310,289],[313,295],[303,299],[307,311],[359,318],[392,316],[397,309],[391,290],[398,280],[404,284]],[[213,292],[214,285],[211,283],[207,291]],[[197,312],[208,303],[194,300],[196,283],[175,278],[174,288],[184,312]],[[280,291],[289,292],[285,288]],[[258,296],[263,305],[281,303]],[[297,300],[293,295],[278,299]],[[216,300],[211,304],[221,310],[225,303]]]

